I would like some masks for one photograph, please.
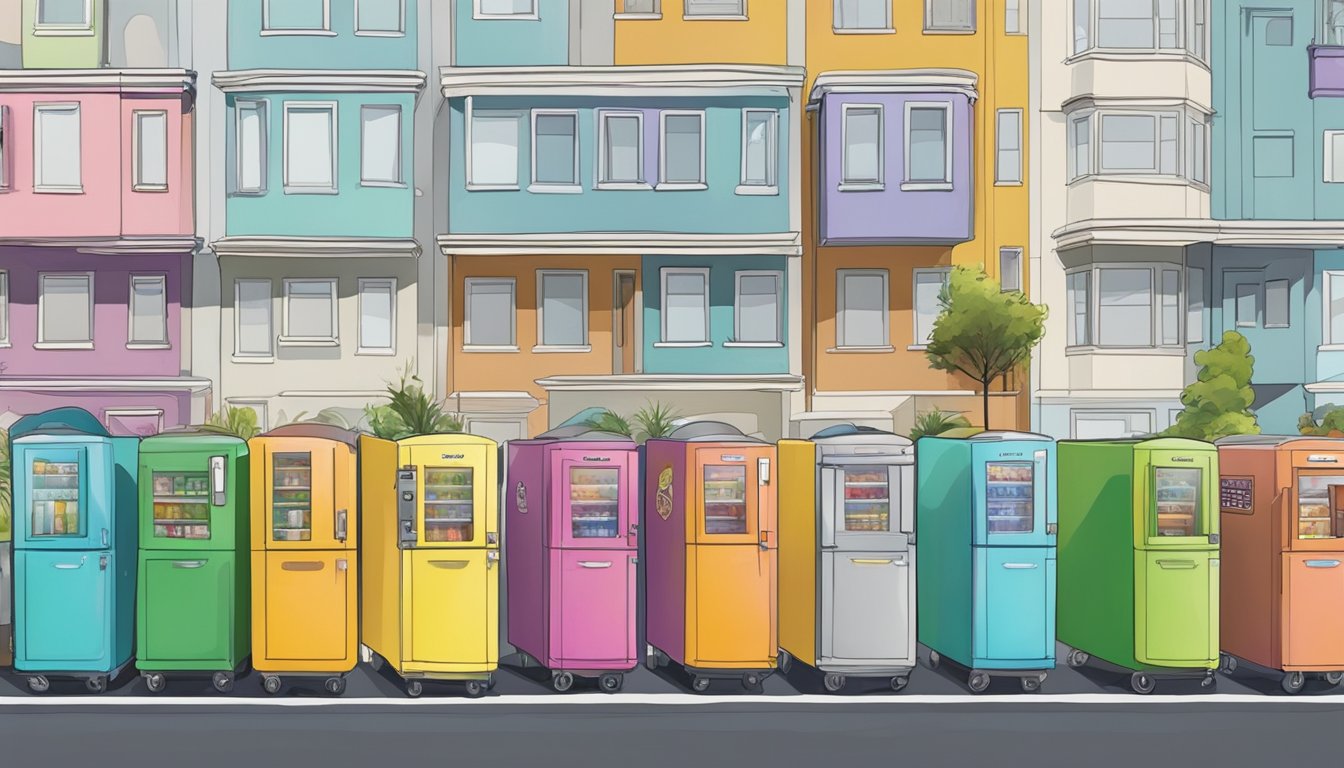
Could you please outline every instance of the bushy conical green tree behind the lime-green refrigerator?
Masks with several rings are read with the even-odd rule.
[[[1185,409],[1163,434],[1208,441],[1228,434],[1259,434],[1255,412],[1250,409],[1255,402],[1251,389],[1255,358],[1246,336],[1227,331],[1216,347],[1195,352],[1195,364],[1200,366],[1199,377],[1180,394]]]

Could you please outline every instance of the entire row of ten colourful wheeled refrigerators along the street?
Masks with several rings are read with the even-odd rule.
[[[339,694],[363,654],[410,695],[425,681],[480,695],[503,570],[507,642],[558,690],[618,690],[641,659],[698,691],[794,663],[832,691],[900,690],[917,636],[977,693],[999,675],[1038,690],[1056,638],[1071,666],[1140,693],[1208,685],[1220,662],[1289,693],[1344,674],[1344,440],[960,430],[917,451],[849,425],[769,444],[704,421],[636,447],[582,417],[503,452],[469,434],[137,440],[78,409],[26,417],[15,670],[34,691],[62,675],[102,690],[130,663],[155,691],[173,674],[228,690],[250,656],[269,693],[317,675]]]

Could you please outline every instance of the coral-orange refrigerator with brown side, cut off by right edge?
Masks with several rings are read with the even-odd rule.
[[[1279,678],[1344,678],[1344,440],[1218,441],[1220,666]]]

